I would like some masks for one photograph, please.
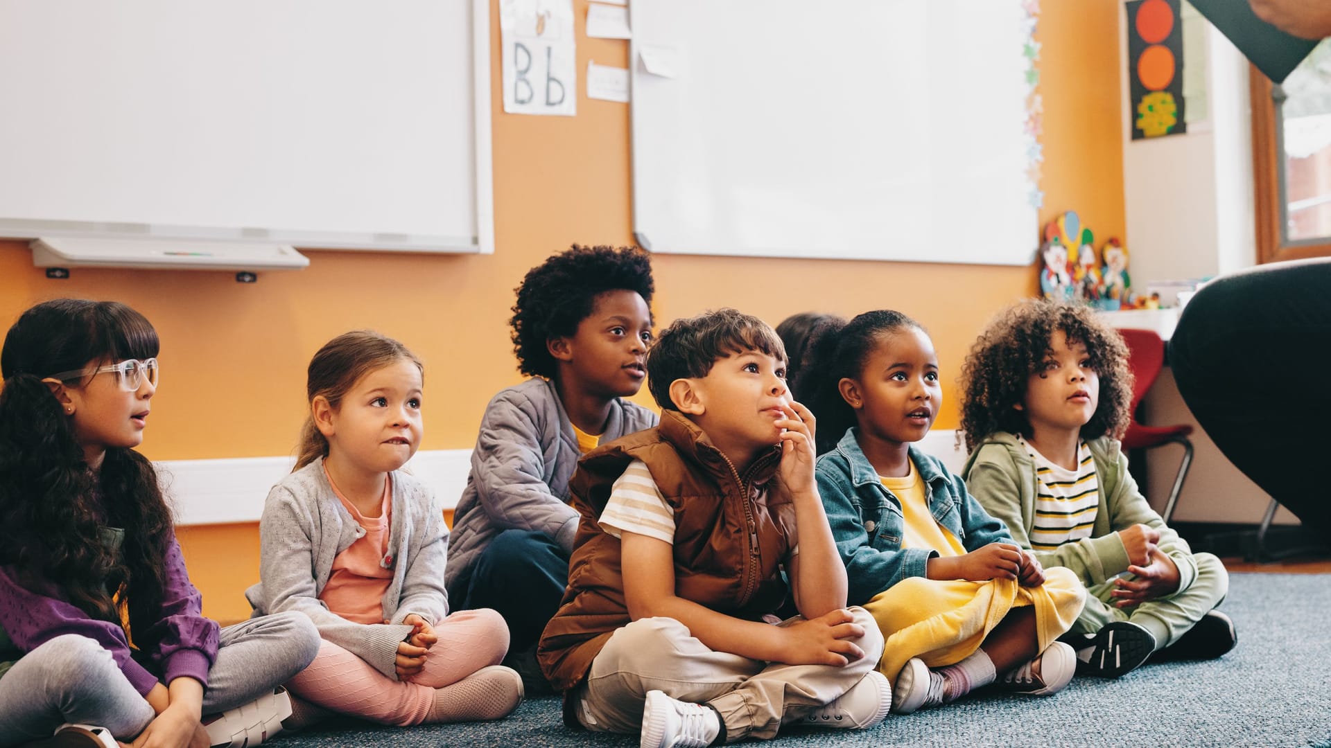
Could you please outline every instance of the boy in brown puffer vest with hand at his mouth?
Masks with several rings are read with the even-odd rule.
[[[566,723],[644,747],[877,724],[882,638],[845,608],[781,341],[712,311],[666,329],[647,370],[660,426],[588,453],[571,482],[568,590],[538,650]],[[775,624],[783,568],[800,616]]]

